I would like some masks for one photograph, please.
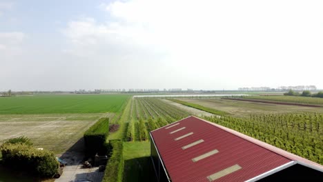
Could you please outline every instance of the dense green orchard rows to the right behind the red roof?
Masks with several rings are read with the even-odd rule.
[[[265,114],[249,118],[206,119],[323,164],[323,114]]]

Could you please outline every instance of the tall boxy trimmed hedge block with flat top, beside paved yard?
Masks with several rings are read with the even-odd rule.
[[[105,143],[109,133],[109,119],[101,118],[97,123],[92,125],[84,133],[84,143],[86,154],[88,156],[95,155],[101,150],[106,150]]]

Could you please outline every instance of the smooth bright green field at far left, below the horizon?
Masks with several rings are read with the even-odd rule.
[[[0,97],[0,114],[120,112],[126,94],[50,94]]]

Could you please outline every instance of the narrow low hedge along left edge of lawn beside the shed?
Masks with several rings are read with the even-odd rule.
[[[110,141],[110,145],[112,145],[112,155],[106,165],[102,182],[121,182],[124,174],[124,145],[119,140]]]

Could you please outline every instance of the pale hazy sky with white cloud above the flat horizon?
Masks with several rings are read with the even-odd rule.
[[[323,1],[0,0],[0,90],[316,85]]]

